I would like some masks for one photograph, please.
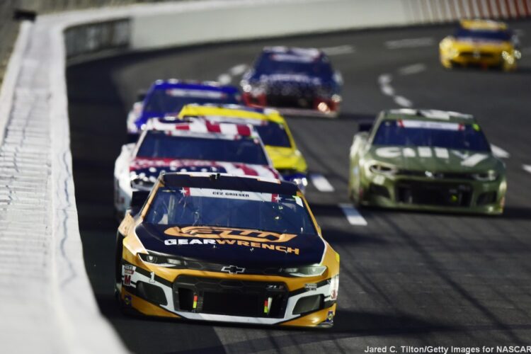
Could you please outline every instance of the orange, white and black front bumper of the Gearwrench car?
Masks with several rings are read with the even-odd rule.
[[[312,288],[290,290],[286,281],[258,275],[229,276],[212,272],[168,270],[173,282],[156,271],[122,262],[121,304],[147,316],[198,321],[285,326],[331,326],[336,301],[331,280],[312,282]],[[279,278],[279,277],[275,277]]]

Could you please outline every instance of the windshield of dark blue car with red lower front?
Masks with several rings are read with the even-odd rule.
[[[262,55],[256,64],[258,73],[275,73],[275,74],[307,74],[310,76],[331,77],[332,69],[328,62],[319,59],[296,59],[293,55],[267,54]]]

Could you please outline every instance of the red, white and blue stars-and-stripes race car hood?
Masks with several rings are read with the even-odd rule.
[[[278,178],[278,172],[267,165],[239,164],[236,162],[205,161],[189,159],[133,159],[129,171],[135,176],[149,178],[159,176],[161,172],[214,172],[230,173],[234,176],[260,176]]]

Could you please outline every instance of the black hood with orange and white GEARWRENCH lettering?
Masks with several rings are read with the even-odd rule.
[[[247,268],[317,264],[325,251],[317,235],[160,224],[139,224],[135,232],[152,253]]]

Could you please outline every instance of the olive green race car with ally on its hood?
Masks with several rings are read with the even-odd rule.
[[[501,214],[506,190],[505,164],[472,115],[383,111],[350,147],[355,205]]]

